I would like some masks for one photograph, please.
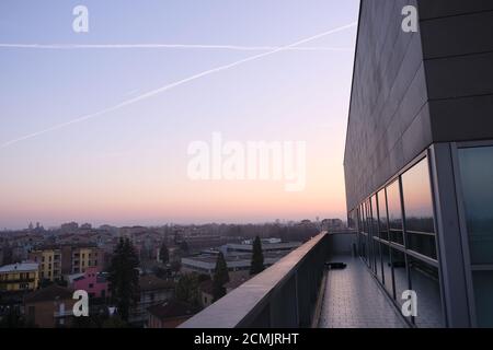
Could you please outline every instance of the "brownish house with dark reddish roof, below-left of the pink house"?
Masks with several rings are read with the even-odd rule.
[[[27,294],[24,313],[30,323],[41,328],[69,327],[73,318],[73,291],[56,284]]]

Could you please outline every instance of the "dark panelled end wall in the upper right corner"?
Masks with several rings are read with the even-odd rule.
[[[434,141],[493,138],[493,1],[419,5]]]

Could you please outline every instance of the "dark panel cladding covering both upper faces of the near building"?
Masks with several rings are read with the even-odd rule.
[[[420,32],[401,30],[404,5]],[[493,1],[362,0],[344,171],[347,209],[434,142],[493,138]]]

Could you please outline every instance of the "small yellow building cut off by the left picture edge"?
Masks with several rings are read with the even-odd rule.
[[[33,291],[38,283],[37,264],[21,262],[0,267],[0,292]]]

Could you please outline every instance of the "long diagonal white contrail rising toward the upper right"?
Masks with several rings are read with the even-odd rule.
[[[101,109],[99,112],[95,112],[95,113],[92,113],[92,114],[88,114],[88,115],[81,116],[79,118],[71,119],[71,120],[66,121],[66,122],[57,124],[57,125],[51,126],[49,128],[46,128],[46,129],[33,132],[33,133],[25,135],[23,137],[20,137],[20,138],[10,140],[10,141],[7,141],[7,142],[4,142],[3,144],[0,145],[0,149],[7,148],[7,147],[9,147],[9,145],[11,145],[13,143],[34,138],[34,137],[37,137],[39,135],[43,135],[43,133],[46,133],[46,132],[49,132],[49,131],[54,131],[54,130],[58,130],[58,129],[65,128],[65,127],[70,126],[72,124],[77,124],[77,122],[81,122],[81,121],[84,121],[84,120],[88,120],[88,119],[92,119],[92,118],[99,117],[99,116],[101,116],[103,114],[106,114],[106,113],[110,113],[110,112],[113,112],[113,110],[117,110],[117,109],[123,108],[125,106],[128,106],[128,105],[131,105],[131,104],[137,103],[139,101],[142,101],[145,98],[148,98],[148,97],[154,96],[157,94],[160,94],[160,93],[162,93],[164,91],[168,91],[168,90],[171,90],[173,88],[183,85],[183,84],[185,84],[187,82],[197,80],[197,79],[199,79],[202,77],[209,75],[209,74],[213,74],[213,73],[217,73],[217,72],[220,72],[220,71],[223,71],[223,70],[227,70],[227,69],[230,69],[230,68],[233,68],[233,67],[237,67],[237,66],[240,66],[240,65],[243,65],[243,63],[246,63],[246,62],[250,62],[250,61],[253,61],[253,60],[266,57],[266,56],[274,55],[274,54],[279,52],[279,51],[288,50],[289,48],[296,47],[298,45],[301,45],[301,44],[305,44],[305,43],[308,43],[308,42],[321,38],[323,36],[326,36],[326,35],[330,35],[330,34],[334,34],[334,33],[342,32],[342,31],[345,31],[347,28],[354,27],[354,26],[356,26],[356,24],[357,24],[357,22],[353,22],[353,23],[349,23],[349,24],[346,24],[346,25],[343,25],[343,26],[340,26],[340,27],[336,27],[336,28],[333,28],[333,30],[330,30],[330,31],[326,31],[326,32],[313,35],[313,36],[310,36],[308,38],[295,42],[293,44],[278,47],[278,48],[270,50],[267,52],[250,56],[250,57],[240,59],[240,60],[234,61],[234,62],[229,63],[229,65],[225,65],[225,66],[220,66],[220,67],[217,67],[217,68],[213,68],[213,69],[206,70],[206,71],[203,71],[200,73],[191,75],[188,78],[185,78],[185,79],[175,81],[173,83],[163,85],[163,86],[158,88],[156,90],[151,90],[151,91],[149,91],[147,93],[144,93],[141,95],[138,95],[136,97],[126,100],[126,101],[124,101],[124,102],[122,102],[119,104],[116,104],[114,106],[111,106],[111,107]]]

